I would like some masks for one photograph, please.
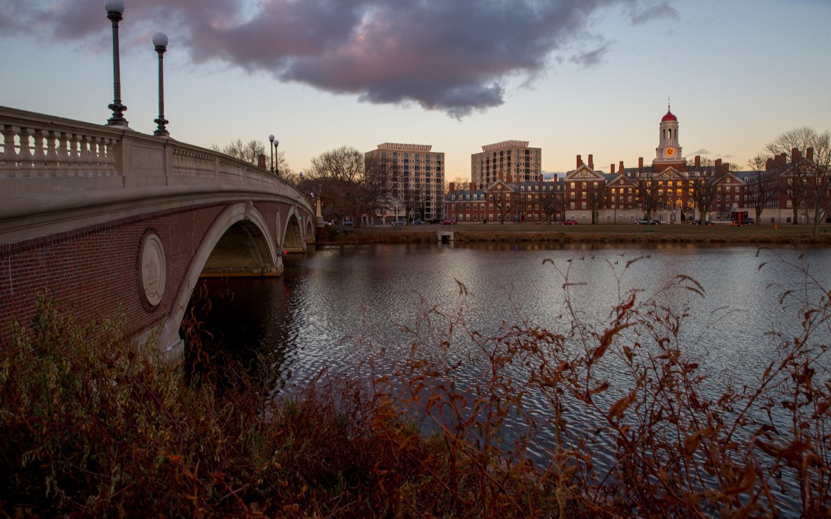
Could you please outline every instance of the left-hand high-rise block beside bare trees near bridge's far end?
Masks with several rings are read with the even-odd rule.
[[[443,218],[445,154],[430,144],[378,144],[367,152],[367,169],[379,174],[381,209],[385,222],[406,219],[425,222]]]

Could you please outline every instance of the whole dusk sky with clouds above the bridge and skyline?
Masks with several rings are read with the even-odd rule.
[[[667,100],[683,155],[747,161],[831,129],[831,0],[124,0],[121,100],[155,130],[164,32],[170,136],[279,141],[294,170],[348,145],[431,144],[447,180],[484,144],[542,169],[655,158]],[[0,105],[105,124],[101,0],[0,0]]]

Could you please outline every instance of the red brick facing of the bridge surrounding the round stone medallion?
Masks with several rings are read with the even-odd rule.
[[[204,234],[228,206],[155,213],[0,245],[0,344],[12,321],[32,320],[35,296],[42,291],[83,320],[112,316],[120,307],[131,336],[164,321]],[[272,236],[278,236],[273,229],[276,214],[288,213],[288,207],[256,206]],[[281,214],[283,223],[285,217]],[[155,307],[143,302],[139,286],[140,245],[150,232],[160,237],[166,263],[164,296]]]

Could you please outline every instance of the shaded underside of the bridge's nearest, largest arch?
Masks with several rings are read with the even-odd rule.
[[[214,245],[201,277],[272,277],[283,273],[273,242],[249,221],[231,225]]]

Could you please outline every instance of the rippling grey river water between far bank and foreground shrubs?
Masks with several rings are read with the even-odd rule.
[[[433,336],[423,331],[433,308],[483,336],[520,322],[561,330],[571,310],[589,324],[610,322],[633,289],[638,301],[688,309],[683,338],[707,373],[752,384],[773,355],[766,332],[797,333],[801,301],[831,288],[831,250],[815,247],[372,245],[321,247],[284,262],[276,279],[209,280],[214,304],[204,316],[225,348],[267,356],[276,393],[324,368],[356,375],[369,357],[408,350],[411,330]],[[463,371],[459,382],[474,384],[480,373]]]

